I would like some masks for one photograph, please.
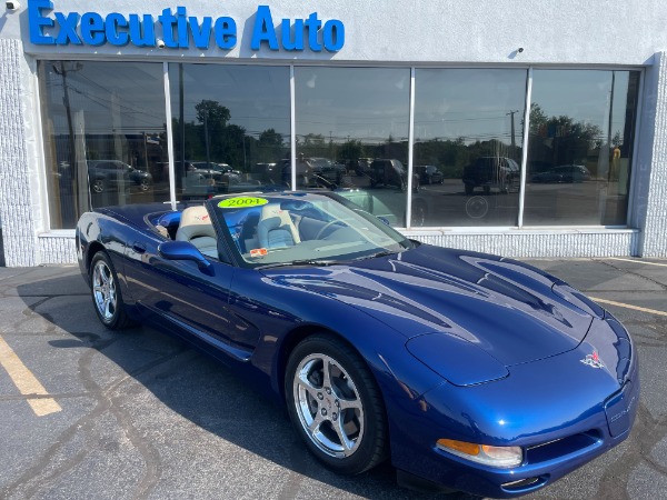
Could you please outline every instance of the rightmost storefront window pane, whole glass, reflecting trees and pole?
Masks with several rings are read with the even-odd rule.
[[[638,71],[535,70],[526,226],[625,226]]]

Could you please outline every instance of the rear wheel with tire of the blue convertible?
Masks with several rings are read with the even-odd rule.
[[[90,296],[100,322],[111,329],[121,330],[131,324],[120,291],[118,276],[109,256],[99,251],[90,262]]]

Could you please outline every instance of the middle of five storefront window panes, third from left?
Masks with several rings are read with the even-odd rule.
[[[295,68],[295,81],[297,184],[406,226],[410,70]]]

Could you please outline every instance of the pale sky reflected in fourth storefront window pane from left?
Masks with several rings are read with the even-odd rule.
[[[415,138],[466,142],[520,138],[526,70],[418,69]]]

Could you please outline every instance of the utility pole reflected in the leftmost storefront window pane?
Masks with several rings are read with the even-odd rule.
[[[68,64],[69,66],[69,64]],[[67,76],[70,72],[74,72],[74,71],[80,71],[81,69],[83,69],[83,64],[81,62],[76,62],[73,63],[73,66],[70,66],[69,68],[66,66],[64,61],[60,61],[59,64],[52,64],[53,71],[57,74],[60,74],[60,77],[62,78],[62,106],[64,106],[64,113],[66,113],[66,118],[67,118],[67,131],[68,131],[68,146],[69,146],[69,172],[70,172],[70,178],[66,178],[64,181],[68,182],[71,180],[71,192],[67,192],[68,191],[68,187],[67,184],[63,186],[61,183],[61,190],[62,188],[66,189],[64,192],[61,192],[62,194],[66,194],[68,197],[74,197],[77,202],[76,203],[64,203],[63,204],[63,209],[64,207],[70,206],[72,209],[74,209],[74,213],[63,213],[63,220],[62,220],[62,224],[63,227],[68,227],[71,226],[73,227],[77,222],[77,220],[79,219],[79,216],[81,216],[81,213],[83,213],[84,211],[87,211],[90,208],[90,190],[87,189],[87,193],[88,196],[86,198],[82,197],[82,187],[87,187],[88,186],[88,168],[82,169],[79,168],[79,163],[78,163],[78,158],[77,158],[77,143],[76,143],[76,139],[74,139],[74,126],[73,126],[73,120],[72,120],[72,111],[71,111],[71,107],[70,107],[70,98],[69,98],[69,87],[68,87],[68,81],[67,81]],[[82,118],[82,117],[80,117]],[[82,121],[82,120],[81,120]],[[82,128],[82,127],[81,127]],[[83,146],[83,144],[81,144]],[[81,148],[81,152],[84,154],[86,148]],[[82,160],[84,160],[84,158],[81,158]]]

